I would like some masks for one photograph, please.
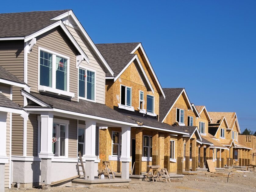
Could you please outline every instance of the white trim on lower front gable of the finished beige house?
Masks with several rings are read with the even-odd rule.
[[[62,30],[65,32],[65,34],[69,37],[69,40],[73,43],[73,45],[75,46],[75,48],[78,50],[78,52],[80,53],[80,55],[83,56],[83,59],[87,62],[87,64],[89,64],[89,58],[87,57],[87,55],[84,53],[84,51],[82,50],[82,48],[77,44],[76,40],[73,38],[73,36],[70,34],[69,30],[66,28],[66,26],[62,23],[62,21],[57,21],[56,23],[53,23],[52,25],[49,25],[48,27],[45,27],[44,29],[41,29],[31,35],[28,35],[27,37],[25,37],[24,41],[27,42],[41,34],[44,34],[45,32],[60,26],[62,28]]]

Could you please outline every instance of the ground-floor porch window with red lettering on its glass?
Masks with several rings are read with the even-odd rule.
[[[55,156],[65,156],[66,125],[53,123],[52,152]]]

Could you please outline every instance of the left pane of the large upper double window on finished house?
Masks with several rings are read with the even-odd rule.
[[[52,87],[52,54],[40,51],[40,85]]]

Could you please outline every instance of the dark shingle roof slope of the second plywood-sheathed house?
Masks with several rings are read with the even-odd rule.
[[[162,122],[183,89],[184,88],[163,88],[165,98],[162,95],[159,98],[159,121]]]

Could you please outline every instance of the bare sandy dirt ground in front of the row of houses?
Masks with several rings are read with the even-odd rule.
[[[229,173],[230,170],[217,173]],[[52,191],[52,192],[121,192],[121,191],[256,191],[255,172],[234,172],[233,176],[212,177],[210,172],[198,172],[197,175],[187,175],[182,179],[171,179],[171,183],[132,180],[130,186],[106,186],[106,187],[49,187],[42,189],[16,189],[6,192],[21,191]]]

